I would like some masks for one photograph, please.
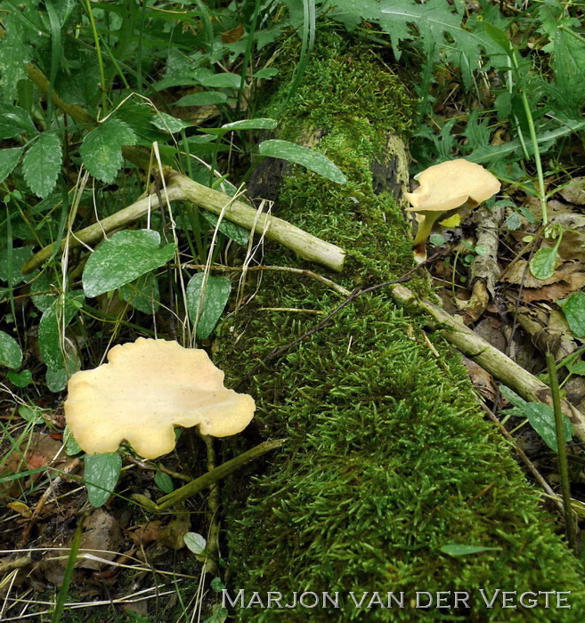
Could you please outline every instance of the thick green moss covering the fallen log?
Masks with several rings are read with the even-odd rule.
[[[273,93],[272,105],[281,97]],[[284,167],[276,183],[275,174],[256,178],[258,192],[262,179],[272,181],[275,214],[348,251],[345,274],[331,278],[350,289],[412,265],[409,228],[384,181],[394,166],[388,137],[407,136],[411,104],[401,79],[369,47],[321,36],[279,137],[311,136],[349,182],[337,186],[300,167]],[[272,246],[264,263],[305,265]],[[250,292],[256,285],[249,281]],[[411,287],[426,286],[415,279]],[[416,315],[384,291],[362,295],[329,327],[258,367],[315,324],[294,310],[330,312],[342,300],[316,280],[266,272],[256,297],[223,328],[219,363],[257,402],[247,441],[287,438],[264,467],[251,466],[223,490],[228,591],[232,598],[245,591],[237,618],[577,620],[585,607],[579,563],[506,442],[483,420],[459,355],[431,336],[437,358]],[[493,549],[452,556],[442,552],[449,545]],[[488,600],[500,590],[492,609],[480,589]],[[261,607],[268,591],[282,594],[280,609]],[[304,591],[318,594],[317,607],[284,608]],[[361,608],[350,591],[358,602],[369,592]],[[384,606],[388,592],[402,592],[403,607],[371,602],[375,591]],[[416,608],[417,591],[469,598],[455,608],[451,593],[443,601],[451,607],[428,611]],[[546,609],[537,595],[533,609],[516,596],[508,604],[518,607],[502,611],[501,591],[570,591],[562,605],[572,609],[557,609],[557,595]],[[322,592],[338,592],[340,609],[322,608]]]

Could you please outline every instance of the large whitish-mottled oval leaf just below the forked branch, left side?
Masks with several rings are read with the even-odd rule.
[[[85,295],[92,298],[115,290],[173,259],[174,244],[159,246],[158,231],[118,231],[102,242],[85,263]]]

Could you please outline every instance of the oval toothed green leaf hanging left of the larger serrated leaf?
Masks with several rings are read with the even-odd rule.
[[[63,160],[61,141],[50,132],[41,134],[22,160],[22,173],[30,190],[38,197],[51,194]]]

